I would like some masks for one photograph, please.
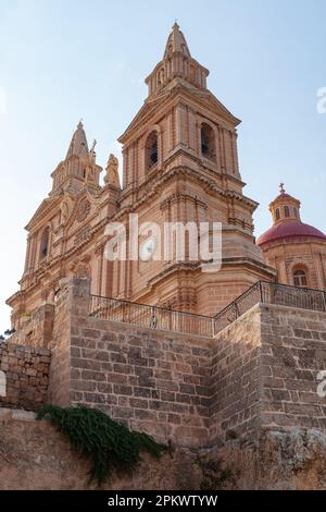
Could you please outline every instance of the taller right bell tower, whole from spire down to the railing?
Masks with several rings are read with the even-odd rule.
[[[156,222],[161,232],[165,222],[221,222],[222,269],[204,273],[200,260],[163,259],[162,244],[151,240],[149,249],[160,245],[161,259],[115,264],[122,266],[114,270],[117,296],[214,314],[259,279],[275,278],[254,243],[258,204],[242,194],[240,121],[208,89],[208,75],[175,24],[163,59],[146,78],[145,105],[120,138],[121,212],[126,223],[127,214],[138,214],[139,223]]]

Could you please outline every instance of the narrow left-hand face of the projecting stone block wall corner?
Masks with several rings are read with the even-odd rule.
[[[210,439],[252,435],[260,427],[260,306],[220,332],[212,350]]]

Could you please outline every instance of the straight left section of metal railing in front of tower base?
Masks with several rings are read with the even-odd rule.
[[[91,295],[90,316],[151,329],[208,337],[214,334],[212,317],[97,295]]]

